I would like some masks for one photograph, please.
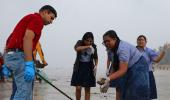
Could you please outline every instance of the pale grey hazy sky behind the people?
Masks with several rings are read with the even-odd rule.
[[[40,40],[50,66],[72,67],[73,46],[87,31],[94,33],[100,67],[106,62],[102,35],[110,29],[134,45],[140,34],[147,36],[150,48],[170,42],[169,0],[1,0],[0,51],[16,23],[46,4],[58,12]]]

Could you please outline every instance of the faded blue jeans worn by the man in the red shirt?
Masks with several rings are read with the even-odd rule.
[[[4,55],[4,63],[14,78],[11,100],[33,100],[33,81],[26,82],[24,79],[24,62],[23,52],[8,52]]]

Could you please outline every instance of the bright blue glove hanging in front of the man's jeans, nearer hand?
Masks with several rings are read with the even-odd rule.
[[[30,82],[34,80],[34,76],[35,76],[34,62],[33,61],[25,62],[25,72],[24,72],[25,81]]]

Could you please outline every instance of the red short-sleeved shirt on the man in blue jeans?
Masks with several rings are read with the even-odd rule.
[[[6,42],[6,49],[17,48],[23,50],[23,38],[27,29],[34,32],[35,37],[33,39],[33,50],[41,36],[43,29],[43,20],[38,13],[29,14],[23,17],[14,28],[13,32],[9,36]]]

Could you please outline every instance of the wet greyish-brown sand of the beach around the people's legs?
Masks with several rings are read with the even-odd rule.
[[[71,72],[63,73],[64,71],[58,70],[53,74],[49,73],[52,83],[65,92],[67,95],[75,100],[75,88],[70,86]],[[154,72],[158,99],[157,100],[169,100],[170,98],[170,70],[156,70]],[[99,76],[99,75],[98,75]],[[9,100],[11,94],[11,80],[5,83],[0,83],[0,100]],[[105,96],[104,96],[105,95]],[[110,88],[107,94],[100,94],[99,86],[92,88],[91,100],[115,100],[115,89]],[[34,84],[34,100],[69,100],[67,97],[62,95],[56,89],[51,87],[45,82]],[[84,90],[82,91],[82,100],[84,100]]]

